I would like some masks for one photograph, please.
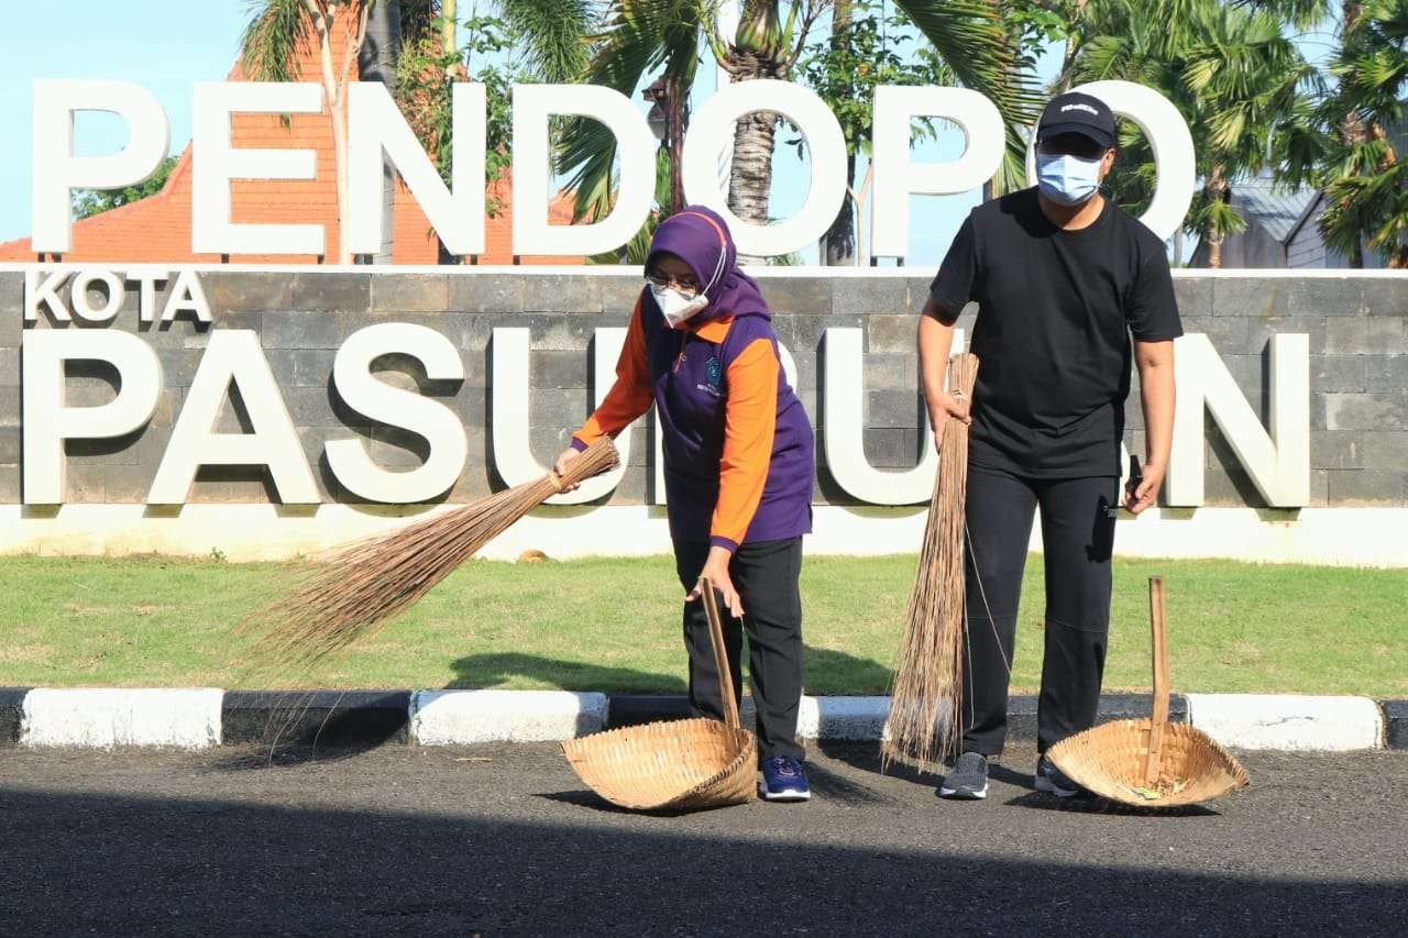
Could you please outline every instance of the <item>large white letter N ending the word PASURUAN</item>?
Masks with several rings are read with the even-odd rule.
[[[1202,504],[1204,404],[1267,504],[1286,508],[1309,504],[1309,337],[1271,337],[1270,434],[1207,335],[1184,335],[1174,349],[1178,407],[1169,459],[1169,504]]]

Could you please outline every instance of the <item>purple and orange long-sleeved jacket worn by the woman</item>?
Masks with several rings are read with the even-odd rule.
[[[811,531],[815,444],[766,310],[707,310],[672,330],[642,290],[615,384],[573,446],[615,437],[652,403],[673,539],[736,551]]]

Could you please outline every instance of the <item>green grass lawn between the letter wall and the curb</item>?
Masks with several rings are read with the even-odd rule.
[[[239,617],[277,566],[0,559],[0,686],[563,687],[681,692],[681,592],[666,558],[472,562],[342,661],[238,665]],[[1121,561],[1108,689],[1149,686],[1148,586],[1169,582],[1174,686],[1408,696],[1408,570]],[[912,556],[810,558],[807,690],[883,693]],[[1041,675],[1042,565],[1028,565],[1014,690]]]

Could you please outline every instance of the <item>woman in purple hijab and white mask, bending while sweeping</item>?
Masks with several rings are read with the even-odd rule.
[[[772,313],[736,266],[734,239],[714,211],[691,206],[650,242],[617,380],[562,472],[603,435],[615,437],[650,404],[665,452],[665,492],[684,600],[690,706],[722,718],[700,579],[722,596],[735,700],[748,630],[763,783],[774,801],[811,794],[797,745],[801,700],[801,535],[811,531],[814,442],[777,354]]]

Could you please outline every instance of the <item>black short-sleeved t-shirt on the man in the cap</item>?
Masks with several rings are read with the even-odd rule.
[[[1036,189],[979,206],[929,293],[979,304],[970,458],[1017,475],[1118,476],[1131,345],[1183,335],[1163,242],[1105,201],[1064,231]]]

